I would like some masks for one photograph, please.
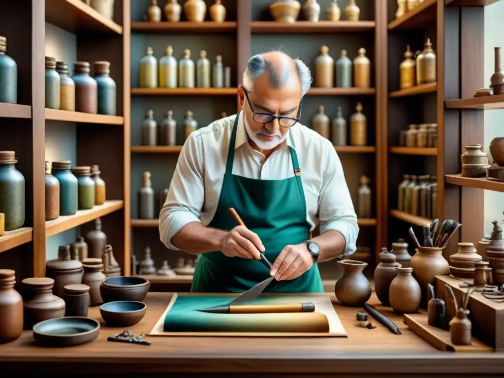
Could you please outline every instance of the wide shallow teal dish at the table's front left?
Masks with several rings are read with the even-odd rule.
[[[83,317],[45,320],[33,326],[33,337],[45,347],[64,348],[89,343],[98,337],[100,323]]]

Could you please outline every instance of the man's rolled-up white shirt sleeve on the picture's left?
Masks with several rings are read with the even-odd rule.
[[[166,202],[159,214],[159,236],[170,249],[171,239],[187,223],[201,222],[205,199],[201,138],[191,134],[184,143],[171,179]]]

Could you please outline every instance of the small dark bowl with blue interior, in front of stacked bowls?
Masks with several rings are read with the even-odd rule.
[[[100,306],[100,314],[110,327],[130,327],[144,319],[147,305],[132,300],[108,302]]]

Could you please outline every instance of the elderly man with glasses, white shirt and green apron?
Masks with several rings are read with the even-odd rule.
[[[271,275],[265,291],[322,292],[317,263],[354,253],[359,228],[338,155],[298,123],[310,84],[299,59],[255,55],[238,88],[243,110],[185,142],[159,233],[199,255],[191,291],[242,292]],[[319,221],[321,235],[308,239]]]

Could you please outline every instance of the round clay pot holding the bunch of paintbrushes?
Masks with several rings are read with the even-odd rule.
[[[448,261],[443,257],[443,249],[445,248],[417,247],[415,255],[411,258],[413,277],[422,290],[422,306],[427,305],[427,285],[434,284],[435,276],[450,274]]]

